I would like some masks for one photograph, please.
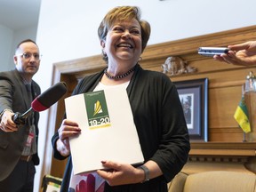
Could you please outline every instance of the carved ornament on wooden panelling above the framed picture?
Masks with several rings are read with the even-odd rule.
[[[194,73],[197,68],[188,66],[188,62],[182,60],[180,57],[168,57],[164,64],[162,64],[163,73],[170,76],[177,76],[181,74]]]

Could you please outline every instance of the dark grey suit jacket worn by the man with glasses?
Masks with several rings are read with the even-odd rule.
[[[33,99],[41,93],[40,87],[32,81]],[[17,70],[0,73],[0,113],[5,108],[23,114],[31,107],[28,92]],[[36,143],[38,139],[39,113],[34,113],[36,125]],[[13,171],[19,162],[25,142],[28,138],[28,124],[20,124],[17,132],[0,130],[0,181],[4,180]],[[37,144],[36,144],[37,145]],[[32,158],[34,164],[39,164],[37,153]]]

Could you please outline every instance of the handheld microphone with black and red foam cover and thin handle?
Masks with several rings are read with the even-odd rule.
[[[15,124],[25,124],[26,118],[33,112],[41,112],[50,108],[55,102],[60,100],[60,98],[67,92],[67,85],[64,82],[59,82],[54,84],[52,87],[48,88],[45,92],[36,97],[31,103],[31,108],[29,108],[25,113],[20,114],[16,112],[12,116],[12,121]]]

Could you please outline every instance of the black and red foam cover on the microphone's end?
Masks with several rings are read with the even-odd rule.
[[[36,97],[31,103],[34,111],[40,112],[50,108],[55,102],[67,92],[67,85],[64,82],[54,84],[45,92]]]

